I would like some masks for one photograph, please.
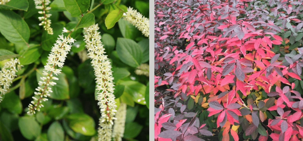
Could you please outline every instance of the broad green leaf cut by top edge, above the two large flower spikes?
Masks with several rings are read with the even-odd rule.
[[[78,17],[89,7],[89,0],[63,0],[66,10],[72,17]]]

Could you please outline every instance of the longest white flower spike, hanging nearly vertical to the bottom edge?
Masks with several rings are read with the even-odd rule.
[[[116,106],[114,92],[114,83],[112,77],[112,66],[104,55],[104,48],[101,42],[100,32],[98,32],[98,24],[84,28],[84,41],[86,43],[86,49],[88,50],[88,56],[92,59],[92,66],[94,66],[96,85],[98,90],[98,105],[101,111],[100,127],[98,130],[99,139],[102,141],[111,141],[112,137],[112,120],[114,117]]]

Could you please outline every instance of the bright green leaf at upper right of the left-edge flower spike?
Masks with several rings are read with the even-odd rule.
[[[30,44],[30,47],[27,51],[20,51],[19,54],[21,55],[19,60],[21,65],[28,65],[31,64],[39,59],[42,54],[41,46],[37,44]]]

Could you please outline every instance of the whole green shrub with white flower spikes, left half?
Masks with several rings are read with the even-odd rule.
[[[148,139],[148,5],[0,0],[0,140]]]

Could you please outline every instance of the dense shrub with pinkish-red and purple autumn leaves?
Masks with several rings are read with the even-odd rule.
[[[302,4],[156,0],[155,140],[301,140]]]

